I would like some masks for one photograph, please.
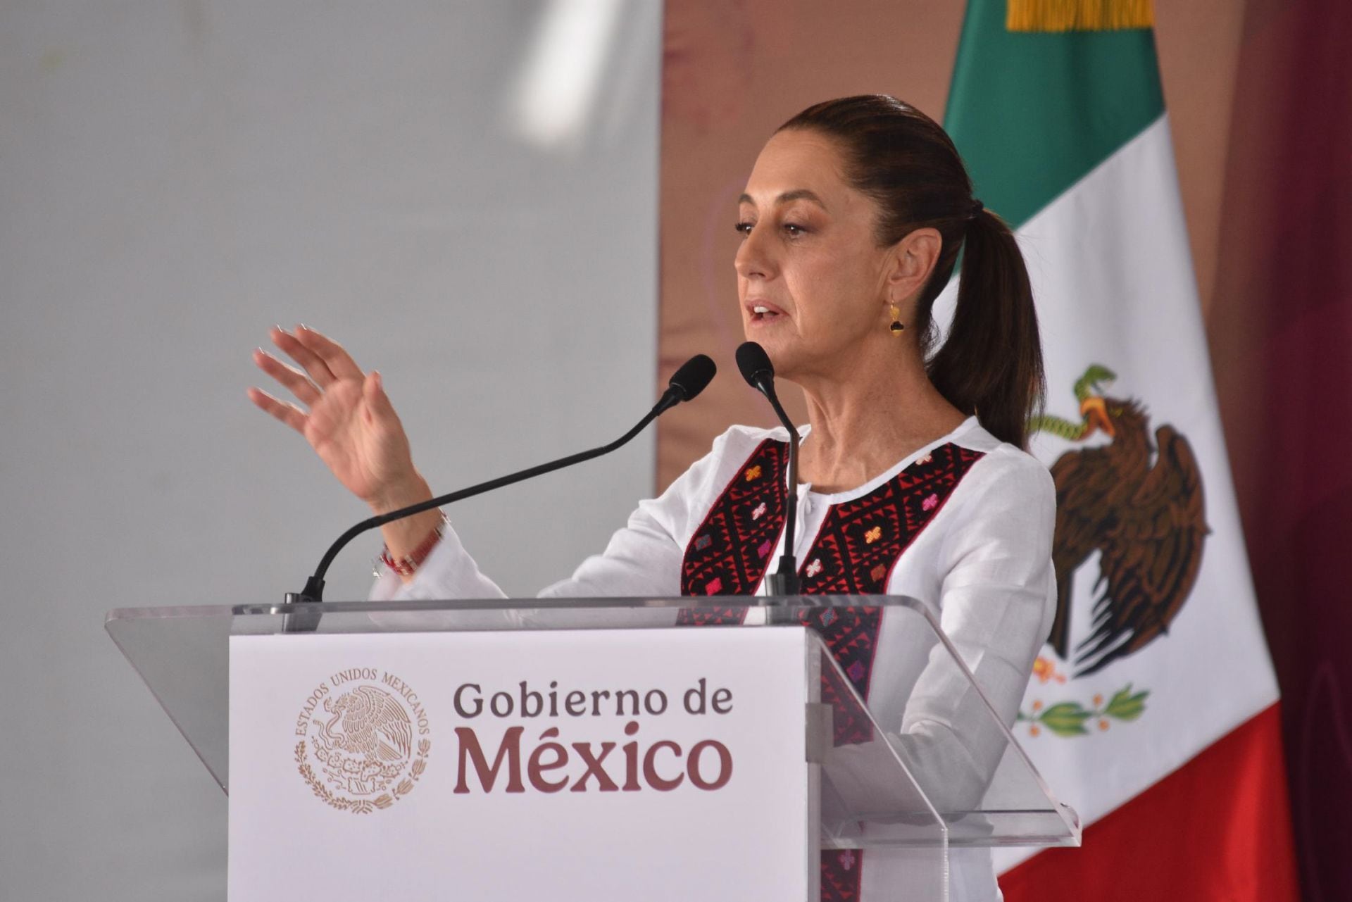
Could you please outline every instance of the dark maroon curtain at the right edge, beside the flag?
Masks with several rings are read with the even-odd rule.
[[[1352,899],[1352,4],[1251,0],[1209,318],[1305,898]]]

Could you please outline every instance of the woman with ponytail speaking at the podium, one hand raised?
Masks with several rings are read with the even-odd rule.
[[[807,402],[791,549],[802,591],[922,599],[1011,722],[1056,598],[1055,490],[1023,452],[1042,358],[1014,237],[972,196],[944,130],[888,96],[830,100],[784,123],[756,160],[735,227],[746,338]],[[940,343],[932,308],[960,252]],[[272,341],[297,366],[262,350],[254,360],[300,406],[254,388],[258,407],[301,433],[376,514],[431,498],[379,373],[314,330],[276,329]],[[787,438],[733,426],[544,595],[764,594],[784,550]],[[439,513],[383,534],[379,598],[502,595]],[[903,645],[887,638],[900,625],[857,609],[830,627],[852,634],[849,679],[921,767],[953,783],[988,776],[1002,746],[963,733],[969,699],[940,692],[907,710],[914,678],[888,656]],[[834,857],[823,853],[823,898],[903,891],[886,852]],[[999,898],[987,852],[955,853],[950,893]]]

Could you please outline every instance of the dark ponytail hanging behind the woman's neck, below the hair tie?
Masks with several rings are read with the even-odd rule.
[[[1033,287],[1014,234],[988,210],[967,224],[953,323],[927,369],[948,403],[1000,441],[1028,446],[1029,418],[1046,392]]]

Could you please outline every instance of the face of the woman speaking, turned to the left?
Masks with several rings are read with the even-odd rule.
[[[895,249],[877,246],[877,206],[845,183],[842,166],[833,139],[781,131],[738,206],[742,327],[787,379],[830,375],[861,341],[890,337]]]

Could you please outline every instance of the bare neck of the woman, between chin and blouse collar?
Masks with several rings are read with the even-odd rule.
[[[819,492],[849,491],[957,429],[967,417],[938,394],[918,356],[915,361],[894,358],[799,381],[813,426],[799,456],[802,481]]]

